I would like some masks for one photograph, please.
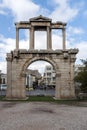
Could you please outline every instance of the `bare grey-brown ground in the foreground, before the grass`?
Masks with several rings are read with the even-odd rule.
[[[87,108],[0,102],[0,130],[87,130]]]

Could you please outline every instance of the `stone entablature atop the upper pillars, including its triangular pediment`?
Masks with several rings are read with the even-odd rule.
[[[38,16],[38,17],[34,17],[31,18],[29,21],[21,21],[21,22],[17,22],[15,23],[16,28],[18,29],[30,29],[31,26],[33,27],[37,27],[39,29],[39,27],[50,27],[51,29],[62,29],[66,26],[66,23],[57,21],[56,23],[52,23],[52,20],[47,18],[47,17],[43,17],[42,15]]]

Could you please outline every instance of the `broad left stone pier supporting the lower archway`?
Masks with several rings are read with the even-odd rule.
[[[7,99],[26,99],[25,74],[21,75],[20,64],[7,57]]]

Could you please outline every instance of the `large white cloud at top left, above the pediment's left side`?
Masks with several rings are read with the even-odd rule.
[[[3,5],[11,11],[15,21],[28,20],[39,10],[31,0],[3,0]]]

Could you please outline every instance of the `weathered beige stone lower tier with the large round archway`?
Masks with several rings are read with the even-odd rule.
[[[57,99],[74,98],[75,92],[73,78],[75,60],[72,59],[75,59],[76,51],[74,54],[69,54],[69,52],[67,52],[67,58],[64,57],[65,52],[62,52],[60,55],[56,55],[56,52],[52,51],[49,55],[49,53],[44,53],[43,51],[43,56],[41,53],[37,53],[38,55],[35,55],[35,53],[37,52],[33,51],[33,53],[30,54],[26,52],[22,53],[19,50],[19,57],[13,57],[12,61],[7,61],[9,77],[7,97],[11,98],[12,96],[12,98],[26,98],[25,74],[27,66],[36,60],[44,60],[50,62],[56,71],[55,97]],[[8,56],[9,55],[7,55],[7,59]]]

